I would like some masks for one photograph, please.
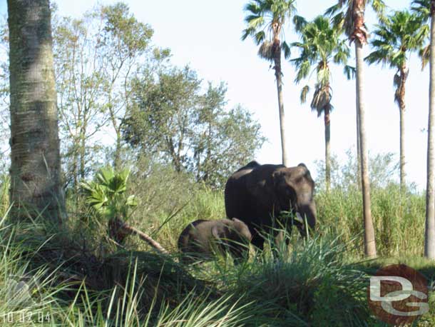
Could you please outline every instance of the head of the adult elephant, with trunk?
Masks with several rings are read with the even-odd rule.
[[[305,236],[305,223],[298,221],[307,220],[308,226],[314,229],[316,225],[316,205],[314,203],[314,181],[305,164],[297,167],[282,167],[272,173],[275,203],[280,211],[295,213],[295,225],[302,236]],[[298,219],[299,218],[299,219]]]

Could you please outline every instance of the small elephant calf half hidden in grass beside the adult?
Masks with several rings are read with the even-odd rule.
[[[184,228],[178,238],[178,248],[192,258],[210,258],[213,251],[230,251],[235,258],[242,258],[251,238],[249,228],[237,218],[200,219]]]

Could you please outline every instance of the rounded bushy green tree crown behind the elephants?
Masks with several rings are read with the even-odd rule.
[[[224,84],[209,84],[203,93],[188,67],[147,73],[135,80],[131,115],[123,121],[124,139],[141,153],[219,187],[262,146],[251,114],[241,106],[225,108]]]

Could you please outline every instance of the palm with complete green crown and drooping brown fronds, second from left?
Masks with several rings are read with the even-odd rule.
[[[324,116],[324,162],[325,162],[325,182],[327,191],[331,186],[331,118],[330,113],[333,109],[331,104],[331,61],[335,64],[346,64],[350,51],[345,41],[340,39],[340,32],[331,26],[329,19],[324,16],[317,16],[309,24],[302,22],[297,26],[300,33],[301,42],[291,44],[292,47],[300,49],[299,58],[292,59],[295,64],[297,74],[295,81],[299,83],[307,78],[312,66],[316,66],[317,81],[314,86],[314,95],[311,101],[312,111],[317,112],[317,117]],[[301,102],[305,103],[309,86],[302,88]]]

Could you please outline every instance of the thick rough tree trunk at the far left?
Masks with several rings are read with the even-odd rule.
[[[11,202],[66,218],[48,0],[8,0]],[[24,211],[16,210],[17,218]]]

